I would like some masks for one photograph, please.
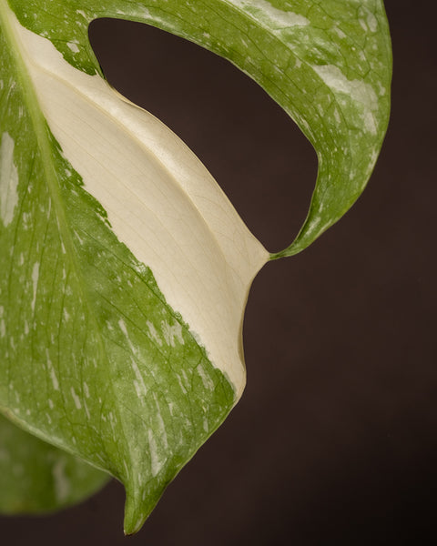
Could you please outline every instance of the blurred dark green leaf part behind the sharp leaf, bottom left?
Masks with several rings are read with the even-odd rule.
[[[69,506],[109,477],[0,417],[0,511],[39,513]]]

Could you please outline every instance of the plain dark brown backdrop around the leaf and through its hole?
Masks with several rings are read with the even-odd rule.
[[[386,1],[391,126],[351,212],[249,297],[248,386],[133,538],[110,484],[47,518],[0,518],[8,545],[437,543],[434,21]],[[305,217],[316,158],[249,78],[175,36],[92,26],[109,81],[188,143],[269,248]],[[431,532],[427,536],[427,531]]]

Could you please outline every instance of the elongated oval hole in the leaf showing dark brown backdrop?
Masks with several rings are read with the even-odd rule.
[[[109,83],[182,138],[264,246],[290,245],[317,176],[290,117],[238,68],[178,36],[116,19],[94,21],[89,35]]]

